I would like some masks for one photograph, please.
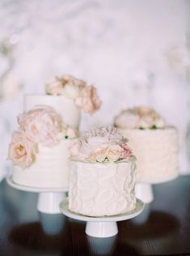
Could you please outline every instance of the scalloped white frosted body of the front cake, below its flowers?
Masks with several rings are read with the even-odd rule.
[[[91,164],[71,161],[69,209],[88,216],[133,211],[135,164]]]

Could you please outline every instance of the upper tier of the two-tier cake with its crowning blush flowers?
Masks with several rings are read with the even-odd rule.
[[[52,83],[47,83],[45,92],[46,95],[26,95],[24,110],[29,111],[35,105],[51,106],[63,122],[78,129],[81,109],[92,114],[100,107],[95,87],[87,86],[84,81],[70,75],[63,75]]]

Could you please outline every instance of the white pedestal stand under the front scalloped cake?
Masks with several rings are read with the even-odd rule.
[[[114,216],[89,217],[69,210],[68,198],[60,203],[61,212],[74,220],[87,221],[85,232],[91,237],[113,237],[118,233],[116,221],[129,220],[141,214],[145,205],[137,199],[136,208],[133,211]]]

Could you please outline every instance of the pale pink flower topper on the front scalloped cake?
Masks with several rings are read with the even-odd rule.
[[[113,127],[99,128],[87,132],[70,147],[74,160],[87,162],[117,162],[132,156],[127,139]]]

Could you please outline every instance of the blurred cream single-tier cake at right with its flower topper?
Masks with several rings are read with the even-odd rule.
[[[179,175],[178,134],[154,109],[122,111],[114,122],[137,157],[137,181],[158,183]]]

